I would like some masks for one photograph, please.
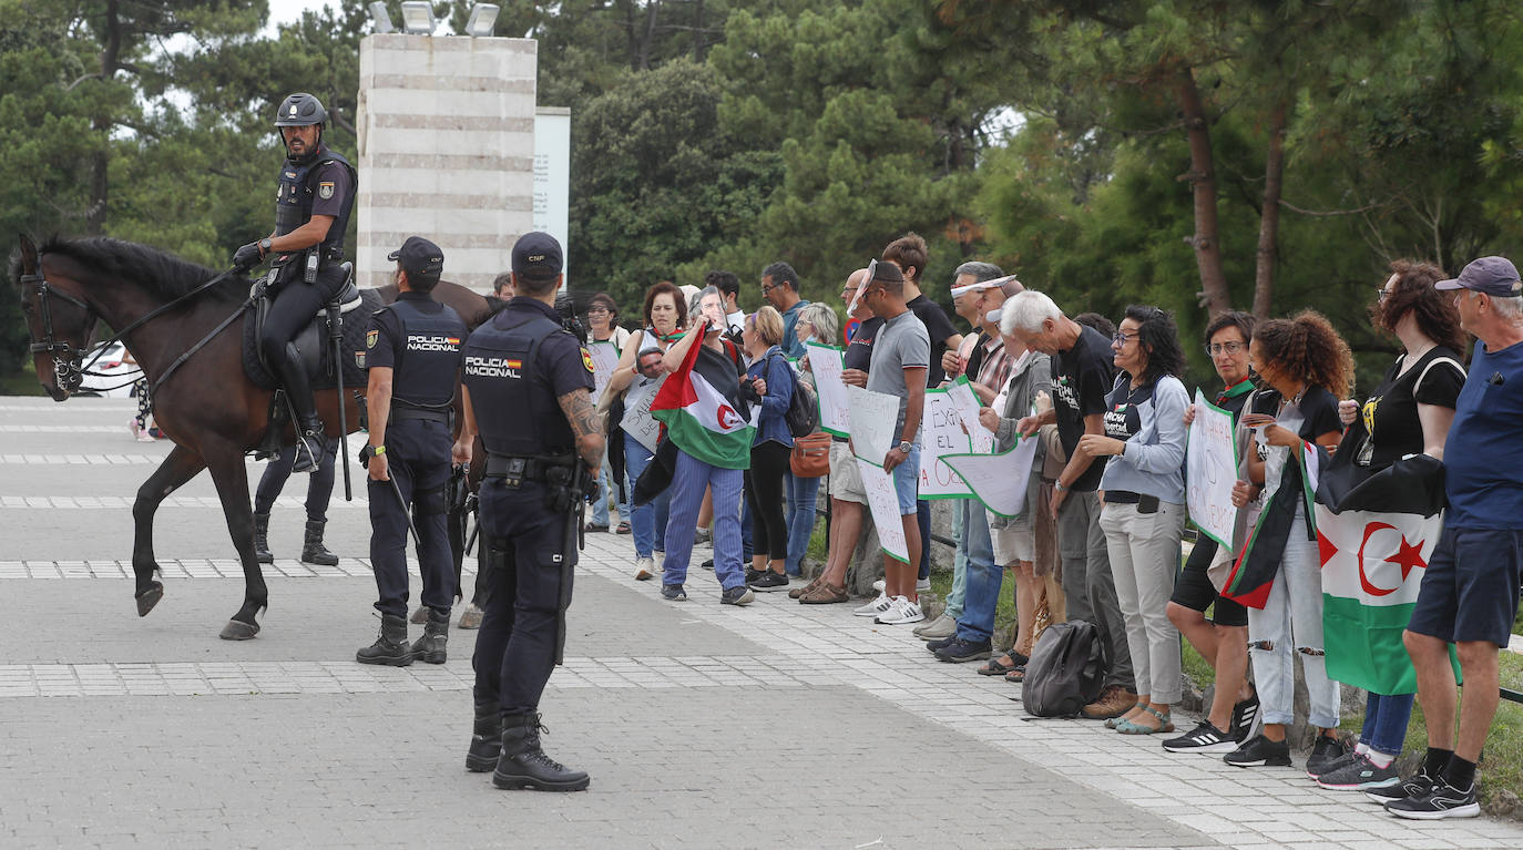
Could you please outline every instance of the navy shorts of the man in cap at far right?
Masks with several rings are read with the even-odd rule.
[[[1433,547],[1407,631],[1506,646],[1518,609],[1523,529],[1450,529]]]

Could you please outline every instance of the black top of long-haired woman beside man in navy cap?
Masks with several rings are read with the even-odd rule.
[[[1454,363],[1435,364],[1433,361],[1439,358]],[[1378,469],[1404,455],[1421,452],[1422,422],[1418,419],[1418,404],[1454,410],[1459,390],[1465,385],[1465,372],[1456,366],[1458,363],[1461,358],[1453,349],[1436,346],[1412,364],[1412,369],[1398,375],[1401,369],[1398,356],[1386,370],[1375,393],[1360,407],[1360,422],[1371,434],[1371,445],[1368,454],[1363,439],[1359,440],[1360,445],[1351,446],[1359,452],[1357,463]]]

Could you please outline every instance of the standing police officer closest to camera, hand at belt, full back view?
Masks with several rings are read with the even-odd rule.
[[[577,509],[597,478],[603,434],[592,414],[592,358],[554,309],[560,245],[525,233],[513,245],[516,296],[471,334],[466,420],[455,460],[486,446],[481,529],[490,570],[475,646],[475,728],[466,768],[498,788],[582,791],[588,775],[539,746],[539,696],[560,661],[576,565]]]

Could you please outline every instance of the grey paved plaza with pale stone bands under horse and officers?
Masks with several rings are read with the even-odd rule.
[[[256,640],[216,638],[242,571],[207,475],[160,509],[166,594],[136,615],[131,501],[169,446],[133,440],[134,410],[0,399],[3,848],[1523,847],[1515,823],[1397,821],[1299,769],[1027,722],[1017,687],[853,606],[720,606],[698,568],[663,602],[615,535],[588,539],[542,705],[547,751],[592,786],[496,791],[463,766],[474,632],[443,666],[353,661],[378,628],[358,468],[335,568],[294,559],[288,486]]]

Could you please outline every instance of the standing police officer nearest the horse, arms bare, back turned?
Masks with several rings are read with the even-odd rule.
[[[466,324],[434,300],[445,254],[428,239],[408,236],[396,260],[396,303],[370,317],[366,332],[366,410],[370,442],[361,449],[370,474],[370,565],[381,599],[381,635],[355,653],[361,664],[405,667],[414,660],[445,663],[455,568],[446,530],[451,411],[460,378]],[[417,529],[428,622],[407,643],[408,509]]]

